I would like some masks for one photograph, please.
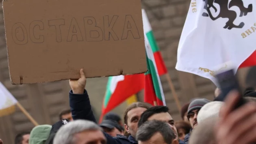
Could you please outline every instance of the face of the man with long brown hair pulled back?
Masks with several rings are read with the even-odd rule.
[[[127,125],[124,125],[124,126],[125,126],[126,131],[128,133],[130,133],[133,138],[136,137],[136,133],[138,130],[138,122],[139,122],[139,119],[141,118],[141,114],[145,110],[147,110],[147,109],[144,107],[137,107],[137,108],[130,110],[127,113]]]

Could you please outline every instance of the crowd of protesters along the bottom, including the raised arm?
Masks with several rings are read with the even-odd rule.
[[[256,144],[253,88],[243,94],[247,103],[236,109],[239,92],[232,91],[225,101],[218,101],[221,91],[217,88],[214,101],[193,99],[186,103],[182,120],[177,122],[169,113],[171,107],[136,102],[126,108],[124,121],[108,113],[98,125],[82,70],[80,76],[79,80],[69,80],[70,109],[61,112],[60,121],[18,134],[15,144]]]

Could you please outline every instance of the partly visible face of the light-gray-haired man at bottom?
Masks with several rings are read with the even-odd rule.
[[[76,144],[106,144],[106,138],[100,130],[82,131],[74,136]]]

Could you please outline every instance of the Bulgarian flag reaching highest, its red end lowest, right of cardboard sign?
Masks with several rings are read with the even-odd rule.
[[[146,35],[145,37],[147,37],[147,39],[148,39],[148,41],[150,43],[150,46],[152,48],[158,74],[160,76],[164,75],[164,74],[167,73],[167,68],[165,67],[165,62],[163,61],[161,52],[160,52],[160,50],[158,48],[158,45],[156,43],[156,39],[154,37],[152,28],[150,26],[150,22],[148,20],[147,14],[146,14],[144,9],[142,9],[142,19],[143,19],[144,33]]]

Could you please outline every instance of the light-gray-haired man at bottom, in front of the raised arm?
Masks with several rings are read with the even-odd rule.
[[[53,144],[106,144],[102,129],[89,120],[75,120],[63,125]]]

